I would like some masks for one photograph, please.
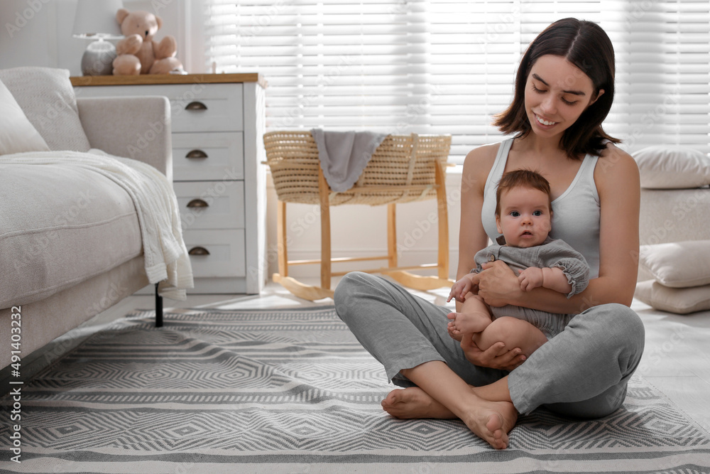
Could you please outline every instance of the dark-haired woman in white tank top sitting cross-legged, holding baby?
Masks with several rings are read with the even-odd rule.
[[[501,261],[479,273],[478,295],[489,306],[577,314],[527,360],[502,342],[485,351],[470,338],[459,343],[447,332],[447,308],[386,279],[359,272],[342,279],[334,297],[338,315],[393,383],[406,387],[383,400],[389,414],[459,418],[494,448],[506,448],[518,413],[545,405],[595,418],[621,406],[644,331],[628,307],[638,268],[638,168],[601,127],[613,95],[606,33],[574,18],[552,23],[530,43],[513,103],[496,119],[514,138],[474,149],[464,162],[457,279],[474,268],[474,254],[488,239],[498,237],[496,183],[520,168],[535,168],[550,182],[551,237],[570,244],[591,267],[589,286],[569,299],[544,288],[521,291]]]

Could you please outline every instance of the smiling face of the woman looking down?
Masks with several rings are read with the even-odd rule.
[[[562,56],[540,56],[525,83],[525,112],[532,131],[542,137],[562,136],[603,93],[595,96],[589,76]]]

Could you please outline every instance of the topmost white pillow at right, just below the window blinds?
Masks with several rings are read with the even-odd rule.
[[[641,188],[700,188],[710,184],[710,158],[687,146],[648,146],[633,153]]]

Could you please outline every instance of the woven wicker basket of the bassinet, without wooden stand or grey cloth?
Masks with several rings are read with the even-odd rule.
[[[278,199],[320,203],[320,161],[310,131],[271,131],[264,134],[264,146]],[[331,192],[329,204],[383,205],[436,198],[436,163],[446,163],[450,148],[450,135],[388,135],[357,183],[343,193]]]

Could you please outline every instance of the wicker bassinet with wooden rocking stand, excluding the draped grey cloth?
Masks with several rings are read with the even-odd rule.
[[[449,135],[388,135],[378,146],[357,183],[343,193],[330,190],[318,159],[318,149],[310,131],[272,131],[264,134],[266,159],[278,195],[278,273],[273,281],[291,293],[310,301],[333,296],[334,262],[386,260],[388,266],[362,270],[390,276],[404,286],[430,290],[451,286],[449,280],[449,219],[447,215],[445,171],[451,147]],[[395,205],[416,200],[437,199],[439,247],[437,263],[413,266],[397,264]],[[286,248],[286,203],[320,204],[321,258],[288,260]],[[372,257],[331,257],[330,206],[342,204],[387,205],[387,255]],[[320,286],[302,284],[288,276],[289,265],[320,264]],[[436,276],[411,273],[413,269],[437,269]]]

